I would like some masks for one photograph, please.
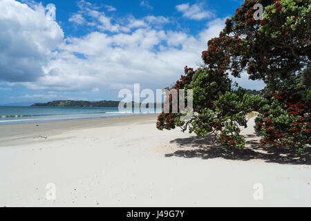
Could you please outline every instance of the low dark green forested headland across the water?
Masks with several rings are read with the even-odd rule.
[[[31,106],[74,106],[74,107],[117,107],[120,102],[117,101],[100,101],[100,102],[88,102],[88,101],[53,101],[47,103],[37,103]]]

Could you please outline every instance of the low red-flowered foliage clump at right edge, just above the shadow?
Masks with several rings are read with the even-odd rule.
[[[288,146],[302,148],[310,144],[311,103],[299,94],[281,91],[273,93],[269,108],[256,119],[256,131],[264,135],[261,146]]]

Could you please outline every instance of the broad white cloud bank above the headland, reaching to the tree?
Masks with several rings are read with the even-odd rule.
[[[140,83],[143,88],[163,88],[178,79],[184,66],[197,66],[207,40],[223,26],[224,19],[209,22],[197,37],[141,27],[129,33],[91,32],[68,38],[46,68],[48,75],[27,86],[97,91],[94,88],[119,90]]]

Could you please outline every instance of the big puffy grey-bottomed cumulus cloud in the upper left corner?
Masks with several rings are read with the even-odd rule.
[[[41,5],[1,0],[0,11],[0,80],[36,81],[62,43],[62,29]]]

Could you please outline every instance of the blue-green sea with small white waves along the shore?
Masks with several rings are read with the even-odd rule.
[[[119,112],[118,108],[0,106],[0,125],[97,119],[129,115],[142,115],[142,113],[133,113],[133,111]]]

